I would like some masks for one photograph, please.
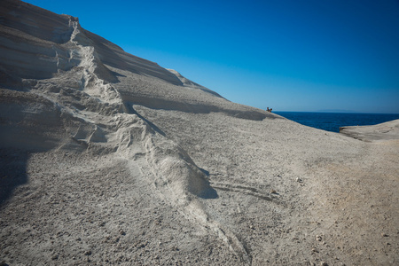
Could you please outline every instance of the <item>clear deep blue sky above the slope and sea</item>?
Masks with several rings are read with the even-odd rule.
[[[398,0],[28,0],[233,102],[399,113]]]

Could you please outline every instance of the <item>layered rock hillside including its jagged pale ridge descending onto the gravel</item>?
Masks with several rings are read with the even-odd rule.
[[[0,145],[29,153],[56,149],[145,160],[145,176],[173,207],[250,262],[239,239],[215,222],[199,201],[217,198],[206,171],[134,106],[223,112],[252,120],[267,115],[129,55],[84,30],[72,16],[20,1],[7,0],[2,6]]]

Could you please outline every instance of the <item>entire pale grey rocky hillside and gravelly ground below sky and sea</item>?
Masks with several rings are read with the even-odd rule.
[[[72,17],[0,12],[3,264],[397,265],[397,121],[308,128]]]

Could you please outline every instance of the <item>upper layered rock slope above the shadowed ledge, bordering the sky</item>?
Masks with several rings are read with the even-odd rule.
[[[276,117],[231,103],[175,70],[137,58],[85,30],[77,18],[16,0],[5,0],[2,6],[0,84],[5,87],[22,89],[26,79],[46,80],[65,77],[65,72],[80,72],[82,82],[76,82],[75,87],[81,86],[89,92],[97,85],[103,88],[101,90],[111,86],[113,89],[107,90],[109,94],[114,95],[112,90],[118,90],[128,106],[190,113],[224,112],[254,120]],[[102,92],[90,93],[99,95]],[[103,98],[108,97],[106,94],[103,93]]]

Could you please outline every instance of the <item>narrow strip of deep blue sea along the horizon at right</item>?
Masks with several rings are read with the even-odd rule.
[[[340,132],[340,127],[369,126],[399,119],[399,113],[273,112],[302,125]]]

